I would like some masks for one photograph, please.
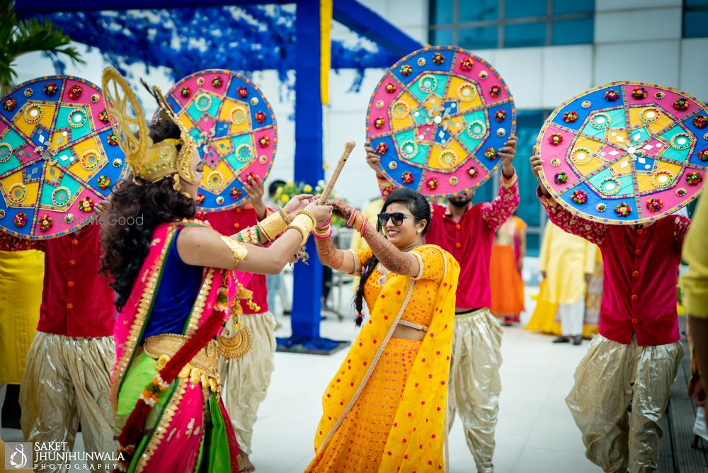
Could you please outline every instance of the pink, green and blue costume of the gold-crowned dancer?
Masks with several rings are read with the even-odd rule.
[[[236,436],[219,396],[214,341],[230,315],[237,283],[230,270],[186,266],[181,260],[168,264],[176,255],[179,230],[196,224],[156,228],[130,299],[115,321],[111,398],[125,458],[119,471],[239,471]],[[194,270],[201,271],[196,280],[188,274]],[[158,307],[170,306],[158,297],[170,288],[187,294],[188,303]]]

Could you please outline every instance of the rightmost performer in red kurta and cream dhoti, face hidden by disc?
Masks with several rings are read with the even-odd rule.
[[[531,164],[539,178],[540,156],[532,156]],[[561,207],[543,183],[538,197],[554,224],[603,253],[600,335],[566,398],[586,457],[605,472],[656,471],[661,416],[683,358],[676,285],[690,220],[672,215],[651,224],[601,224]]]

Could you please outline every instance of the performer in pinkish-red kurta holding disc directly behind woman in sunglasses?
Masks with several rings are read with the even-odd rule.
[[[489,312],[489,263],[494,234],[519,205],[519,186],[513,158],[516,137],[499,150],[503,161],[499,194],[491,202],[472,205],[474,190],[448,199],[447,206],[432,205],[433,218],[426,243],[435,244],[459,262],[455,302],[455,336],[448,383],[448,418],[452,427],[459,412],[477,470],[493,472],[494,431],[499,411],[501,380],[501,326]],[[367,147],[367,162],[377,171],[379,156]],[[394,188],[377,171],[385,197]]]

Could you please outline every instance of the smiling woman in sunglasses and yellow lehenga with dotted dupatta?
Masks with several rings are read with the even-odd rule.
[[[424,244],[430,205],[394,190],[378,229],[346,203],[335,212],[367,241],[334,249],[329,228],[315,230],[320,261],[361,275],[355,296],[370,317],[322,397],[315,457],[307,472],[447,471],[447,378],[450,372],[459,265]]]

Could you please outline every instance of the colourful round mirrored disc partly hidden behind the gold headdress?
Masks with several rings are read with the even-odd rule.
[[[265,181],[278,142],[275,115],[246,77],[226,69],[195,72],[177,82],[167,101],[199,144],[204,178],[200,210],[227,210],[249,196],[249,176]]]

